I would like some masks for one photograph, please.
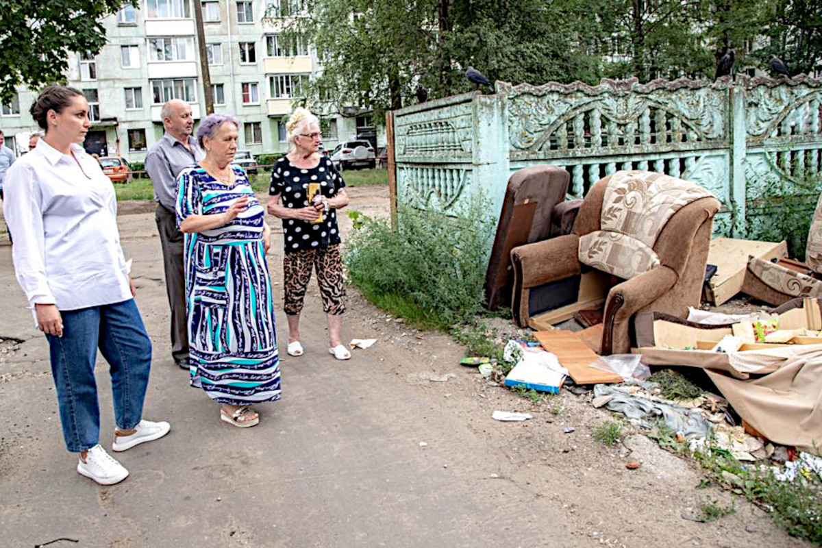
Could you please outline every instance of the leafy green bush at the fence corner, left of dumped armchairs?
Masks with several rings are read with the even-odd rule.
[[[483,308],[486,235],[483,200],[465,218],[399,208],[399,227],[360,219],[345,256],[350,279],[376,306],[424,327],[463,324]]]

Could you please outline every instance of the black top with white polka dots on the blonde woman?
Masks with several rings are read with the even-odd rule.
[[[283,156],[276,161],[271,170],[269,195],[279,194],[280,203],[288,208],[306,207],[310,199],[307,196],[310,182],[319,182],[322,196],[326,198],[337,196],[337,192],[345,187],[343,176],[330,159],[322,158],[316,168],[305,169],[295,168],[289,159]],[[339,243],[337,212],[327,211],[322,223],[317,224],[300,219],[283,219],[283,241],[286,253]]]

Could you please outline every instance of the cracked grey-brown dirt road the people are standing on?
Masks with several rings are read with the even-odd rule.
[[[352,209],[386,214],[385,187],[350,194]],[[188,387],[169,356],[151,209],[124,204],[119,221],[154,343],[145,417],[171,421],[172,431],[122,454],[131,477],[118,486],[74,472],[47,347],[14,280],[10,247],[0,245],[0,546],[62,536],[80,543],[52,546],[802,546],[741,500],[736,514],[713,523],[682,518],[706,500],[731,499],[697,490],[695,467],[644,436],[618,449],[593,442],[593,426],[607,415],[583,397],[563,391],[533,405],[487,386],[456,364],[462,348],[449,338],[386,318],[353,291],[344,337],[377,338],[374,347],[348,362],[326,353],[314,286],[304,311],[307,352],[282,361],[283,399],[261,408],[255,428],[220,422],[217,406]],[[279,232],[279,221],[272,224]],[[281,311],[277,321],[284,348]],[[100,358],[108,445],[106,369]],[[446,373],[455,377],[431,380]],[[534,418],[496,422],[495,409]],[[563,426],[576,431],[563,434]],[[626,470],[637,458],[643,466]]]

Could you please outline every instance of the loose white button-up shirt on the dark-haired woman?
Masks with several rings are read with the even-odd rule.
[[[132,298],[114,187],[80,145],[72,152],[40,139],[3,184],[14,269],[32,308],[69,311]]]

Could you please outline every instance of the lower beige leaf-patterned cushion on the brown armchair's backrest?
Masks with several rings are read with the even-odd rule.
[[[659,265],[649,246],[626,234],[595,230],[580,237],[580,263],[631,279]]]

